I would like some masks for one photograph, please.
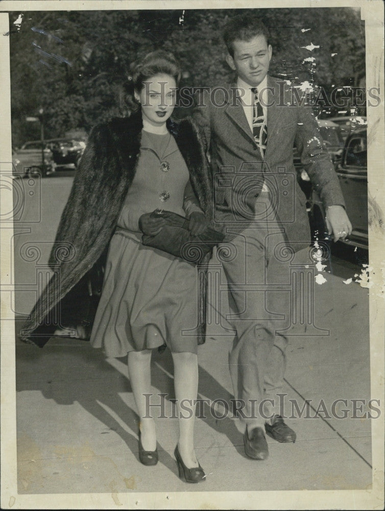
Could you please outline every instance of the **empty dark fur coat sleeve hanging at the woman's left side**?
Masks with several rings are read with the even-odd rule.
[[[77,250],[74,241],[82,222],[92,214],[98,215],[102,205],[93,203],[95,201],[92,198],[98,195],[92,192],[100,184],[101,170],[106,165],[110,152],[111,144],[107,126],[103,124],[95,126],[89,134],[67,203],[61,215],[55,243],[49,258],[51,268],[57,268],[63,260],[71,259],[72,252]]]

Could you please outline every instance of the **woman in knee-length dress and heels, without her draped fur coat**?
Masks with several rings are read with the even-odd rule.
[[[133,72],[135,99],[143,129],[140,154],[131,187],[112,237],[102,296],[93,323],[91,344],[107,356],[128,353],[131,387],[140,417],[139,457],[143,464],[157,462],[156,428],[148,414],[151,392],[152,349],[165,342],[174,361],[178,411],[183,399],[195,400],[198,391],[197,338],[182,337],[196,326],[197,269],[165,252],[141,244],[141,234],[155,236],[164,219],[151,213],[164,207],[190,217],[189,229],[199,234],[206,227],[194,194],[185,194],[189,174],[173,135],[167,130],[175,104],[179,68],[171,55],[154,52]],[[184,206],[184,210],[183,210]],[[195,412],[194,410],[192,410]],[[179,415],[179,413],[178,413]],[[181,475],[198,482],[204,476],[194,452],[194,414],[180,419],[176,457]]]

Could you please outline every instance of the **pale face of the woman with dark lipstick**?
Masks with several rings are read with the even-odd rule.
[[[160,126],[169,119],[175,107],[177,84],[170,75],[155,75],[143,82],[135,98],[141,103],[143,120],[153,126]]]

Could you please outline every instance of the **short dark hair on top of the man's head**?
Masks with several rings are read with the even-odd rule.
[[[269,30],[255,14],[250,14],[250,11],[231,18],[223,32],[227,51],[232,57],[234,57],[234,41],[250,41],[258,35],[263,35],[268,45],[270,44]]]

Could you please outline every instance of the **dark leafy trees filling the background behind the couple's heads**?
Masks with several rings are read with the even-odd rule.
[[[183,69],[181,86],[230,79],[222,30],[237,12],[24,12],[16,25],[20,12],[10,13],[13,145],[39,138],[39,123],[26,122],[26,117],[37,115],[40,107],[46,137],[87,133],[98,122],[127,115],[130,63],[154,49],[176,55]],[[359,11],[282,8],[259,13],[271,31],[273,75],[326,90],[365,86],[365,27]],[[303,48],[311,43],[319,48]],[[315,60],[305,61],[308,57]],[[181,110],[176,117],[186,114]]]

